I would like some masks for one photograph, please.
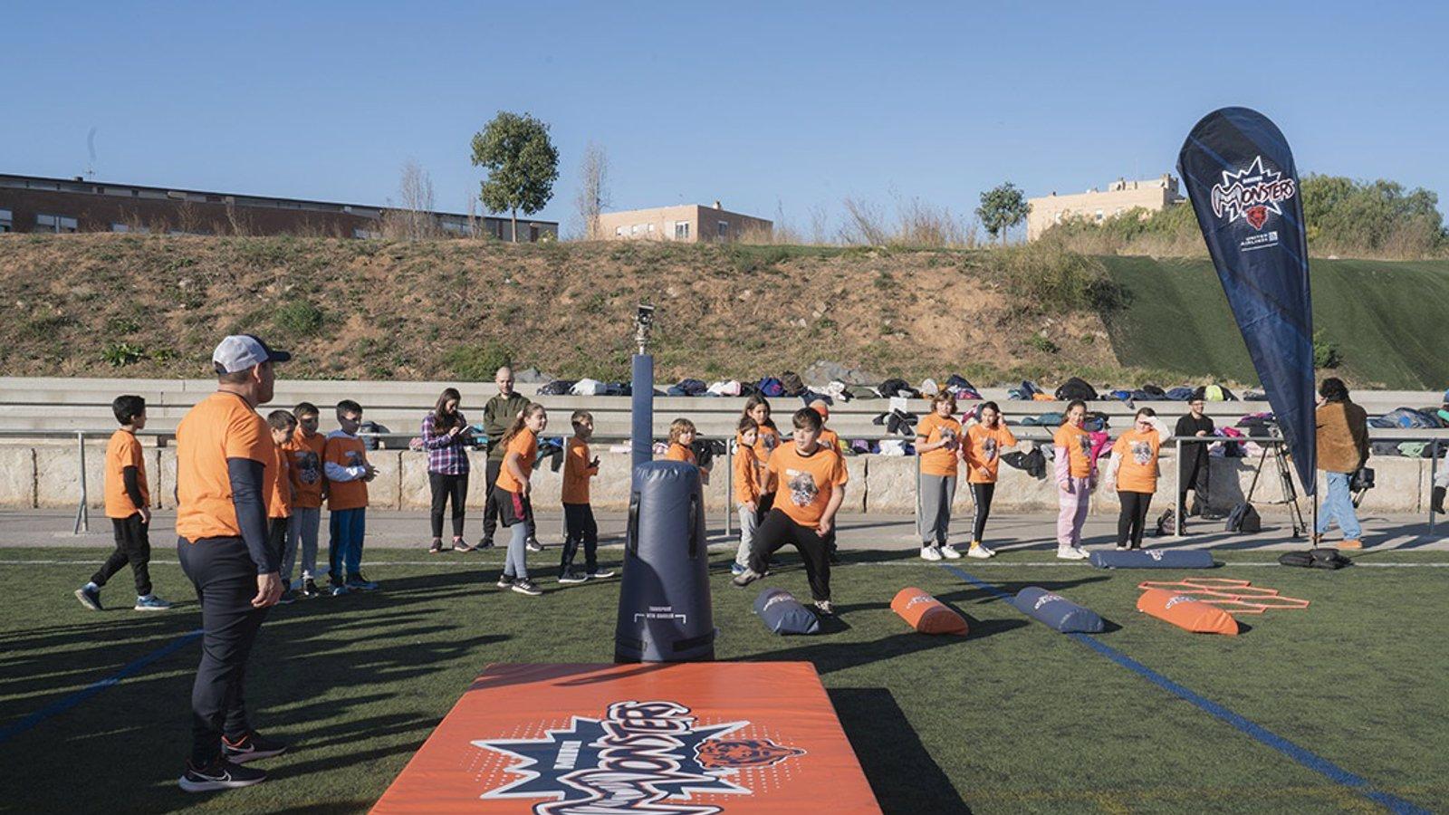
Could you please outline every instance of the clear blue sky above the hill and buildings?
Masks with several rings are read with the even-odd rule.
[[[1006,6],[1006,4],[1003,4]],[[1172,170],[1243,104],[1303,171],[1449,199],[1440,3],[33,3],[0,13],[0,173],[351,203],[401,164],[467,212],[469,138],[532,112],[614,209],[724,202],[804,228],[846,196],[969,213],[982,189]]]

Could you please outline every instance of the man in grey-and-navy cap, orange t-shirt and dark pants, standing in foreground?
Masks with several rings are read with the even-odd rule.
[[[177,426],[177,554],[201,603],[201,664],[191,686],[187,792],[251,786],[267,773],[246,761],[280,756],[246,718],[242,683],[267,609],[281,596],[281,553],[267,541],[272,439],[256,406],[271,402],[274,351],[249,334],[212,354],[216,393]]]

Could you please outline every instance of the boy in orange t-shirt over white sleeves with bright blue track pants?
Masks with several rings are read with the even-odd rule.
[[[338,402],[341,429],[327,434],[322,450],[323,474],[327,477],[327,541],[332,596],[377,589],[362,577],[362,538],[367,535],[367,484],[377,477],[368,464],[367,447],[358,438],[362,406],[351,399]],[[346,568],[346,582],[342,570]]]

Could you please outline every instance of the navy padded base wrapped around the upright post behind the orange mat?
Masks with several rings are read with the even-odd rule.
[[[707,554],[698,467],[682,461],[635,467],[614,661],[714,658]]]

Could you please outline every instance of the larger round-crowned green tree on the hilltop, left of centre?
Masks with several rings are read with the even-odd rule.
[[[519,212],[533,215],[543,209],[558,180],[558,149],[548,138],[548,125],[527,113],[500,110],[474,133],[472,164],[488,170],[478,194],[483,206],[511,213],[517,242]]]

